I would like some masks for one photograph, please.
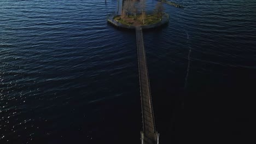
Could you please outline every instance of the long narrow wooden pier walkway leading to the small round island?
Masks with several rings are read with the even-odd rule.
[[[154,112],[152,98],[150,94],[150,85],[148,78],[148,67],[146,52],[144,49],[143,33],[141,26],[136,26],[137,49],[138,49],[138,67],[139,83],[141,86],[141,105],[142,105],[142,123],[141,131],[142,144],[157,144],[158,133],[155,129]]]

